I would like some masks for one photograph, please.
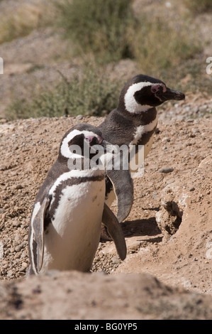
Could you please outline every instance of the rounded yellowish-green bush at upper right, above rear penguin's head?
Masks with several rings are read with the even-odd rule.
[[[172,26],[160,18],[143,16],[135,36],[135,56],[147,72],[169,70],[200,52],[201,46],[194,40],[189,25]],[[192,36],[192,37],[191,37]]]

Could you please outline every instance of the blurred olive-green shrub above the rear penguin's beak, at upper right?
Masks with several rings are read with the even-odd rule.
[[[186,76],[187,62],[201,53],[202,45],[189,21],[170,23],[146,15],[133,40],[133,52],[141,71],[174,83]]]

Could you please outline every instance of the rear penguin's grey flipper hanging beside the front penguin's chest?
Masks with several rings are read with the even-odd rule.
[[[116,193],[118,222],[123,222],[133,205],[133,179],[129,170],[107,170],[106,175],[113,183]]]

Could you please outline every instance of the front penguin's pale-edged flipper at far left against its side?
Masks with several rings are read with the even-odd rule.
[[[40,208],[32,221],[32,262],[36,273],[39,273],[43,265],[44,218],[48,205],[50,205],[50,198],[46,197],[44,198],[42,205],[40,205]]]

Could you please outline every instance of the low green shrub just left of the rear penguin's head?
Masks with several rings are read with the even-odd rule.
[[[117,107],[123,82],[112,81],[103,70],[87,65],[79,80],[62,75],[54,89],[46,90],[32,101],[16,99],[6,110],[7,119],[60,117],[65,114],[101,116]]]

